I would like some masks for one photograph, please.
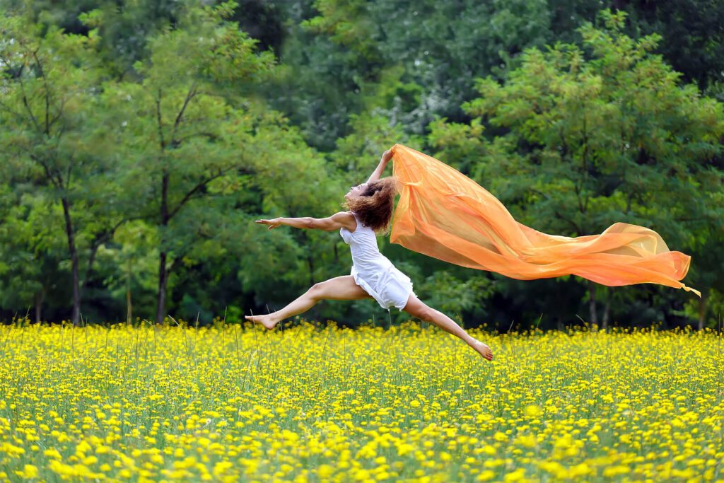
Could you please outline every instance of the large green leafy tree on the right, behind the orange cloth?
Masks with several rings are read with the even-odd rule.
[[[634,41],[621,32],[623,12],[601,15],[605,28],[579,30],[582,49],[529,49],[505,83],[479,82],[481,96],[466,112],[508,133],[473,140],[485,162],[477,176],[539,230],[578,236],[633,222],[673,249],[693,248],[694,238],[707,236],[693,221],[712,216],[702,188],[721,186],[711,161],[724,133],[722,107],[679,85],[678,73],[651,54],[658,35]],[[467,140],[479,130],[477,121],[438,124],[432,138],[470,156]],[[589,303],[596,323],[592,283]]]

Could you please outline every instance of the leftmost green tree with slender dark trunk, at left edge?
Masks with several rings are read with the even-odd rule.
[[[96,131],[102,75],[93,54],[96,36],[64,35],[17,15],[4,17],[2,32],[7,41],[0,46],[0,149],[6,180],[10,186],[33,185],[49,209],[59,207],[77,324],[98,247],[124,222],[109,203],[111,167]]]

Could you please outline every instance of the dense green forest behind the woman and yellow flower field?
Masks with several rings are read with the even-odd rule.
[[[657,230],[691,293],[518,281],[379,245],[466,327],[717,327],[724,3],[0,0],[0,319],[274,310],[347,274],[324,217],[395,143],[536,230]],[[389,174],[389,173],[388,173]],[[402,315],[324,302],[355,326]]]

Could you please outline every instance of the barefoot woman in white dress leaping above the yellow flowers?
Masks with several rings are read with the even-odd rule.
[[[281,310],[267,315],[246,316],[246,319],[273,329],[280,320],[301,314],[324,299],[353,301],[374,298],[382,308],[395,306],[413,317],[435,324],[445,332],[460,337],[483,358],[492,361],[492,351],[486,344],[468,335],[450,317],[420,301],[412,291],[410,279],[379,253],[375,233],[385,230],[390,224],[396,194],[395,180],[392,177],[380,179],[390,159],[392,151],[384,151],[369,180],[350,188],[345,195],[346,206],[350,211],[340,211],[321,219],[274,218],[256,221],[269,225],[269,230],[281,225],[325,231],[340,230],[342,239],[350,245],[353,266],[350,275],[313,285],[304,295]]]

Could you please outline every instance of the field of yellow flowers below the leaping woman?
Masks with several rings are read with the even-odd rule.
[[[0,327],[0,481],[724,481],[715,332]]]

